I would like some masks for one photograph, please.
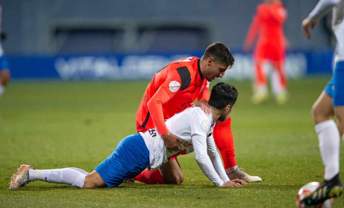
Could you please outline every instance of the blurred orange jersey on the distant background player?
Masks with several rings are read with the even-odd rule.
[[[260,3],[246,36],[246,43],[252,45],[257,34],[255,56],[274,61],[284,56],[286,40],[283,24],[287,19],[287,10],[282,2]]]

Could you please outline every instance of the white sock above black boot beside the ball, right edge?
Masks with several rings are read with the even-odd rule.
[[[318,134],[319,149],[325,167],[325,180],[332,179],[339,172],[340,135],[334,120],[315,124]]]

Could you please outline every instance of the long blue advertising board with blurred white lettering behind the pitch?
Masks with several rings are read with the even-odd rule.
[[[251,79],[252,54],[232,53],[235,62],[225,78]],[[136,80],[150,79],[161,67],[188,56],[203,53],[173,54],[93,54],[56,56],[8,56],[11,76],[16,78],[58,78],[62,80]],[[332,50],[288,51],[285,69],[288,77],[332,73]],[[269,70],[267,65],[266,70]]]

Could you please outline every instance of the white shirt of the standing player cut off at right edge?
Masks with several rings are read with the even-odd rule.
[[[311,21],[320,19],[332,8],[332,31],[337,41],[334,62],[337,63],[344,61],[344,0],[320,0],[308,18]]]

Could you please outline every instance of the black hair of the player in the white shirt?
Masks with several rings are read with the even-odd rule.
[[[217,83],[210,94],[209,105],[218,110],[230,105],[232,108],[238,98],[238,91],[233,85],[227,83]]]

